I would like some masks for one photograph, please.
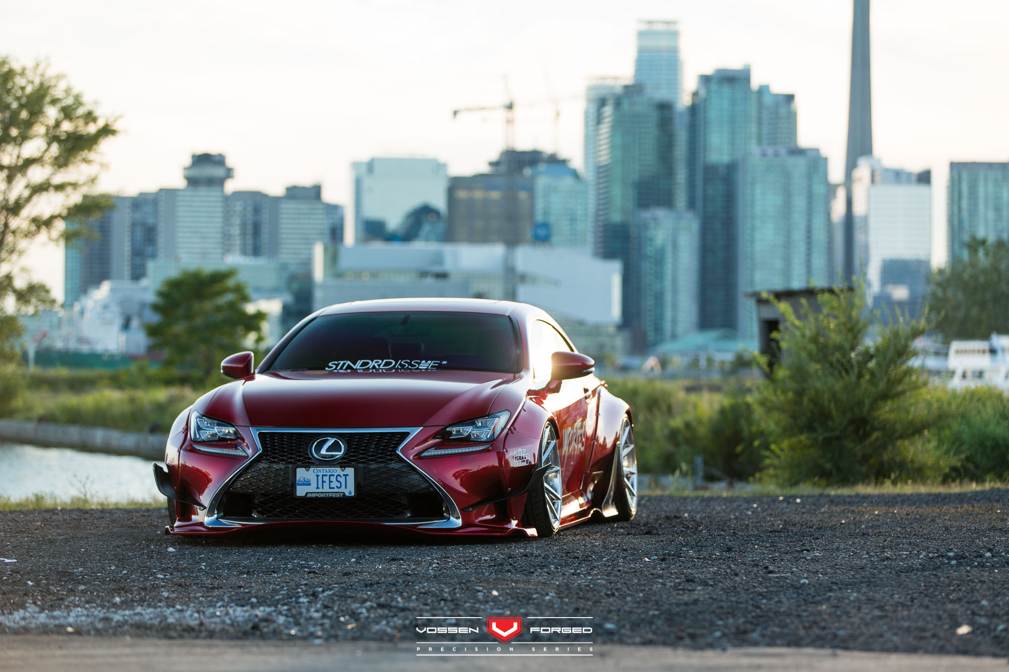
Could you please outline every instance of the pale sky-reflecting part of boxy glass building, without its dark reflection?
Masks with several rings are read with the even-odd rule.
[[[353,163],[354,241],[384,240],[417,207],[444,213],[448,167],[435,158],[375,157]]]

